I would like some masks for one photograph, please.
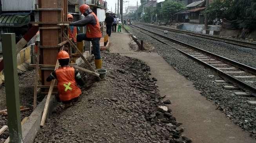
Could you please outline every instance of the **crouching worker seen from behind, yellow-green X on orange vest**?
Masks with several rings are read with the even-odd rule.
[[[84,86],[84,80],[78,70],[68,66],[69,54],[66,51],[60,51],[57,59],[61,67],[53,71],[46,80],[47,82],[50,82],[53,79],[58,80],[58,98],[65,104],[65,107],[69,107],[72,102],[76,102],[78,97],[82,94],[77,84]]]

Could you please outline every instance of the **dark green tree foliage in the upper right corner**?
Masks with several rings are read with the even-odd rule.
[[[246,28],[255,29],[256,0],[213,0],[205,14],[210,19],[241,20]]]

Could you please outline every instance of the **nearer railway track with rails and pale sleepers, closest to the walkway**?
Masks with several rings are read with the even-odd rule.
[[[137,25],[132,25],[137,30],[178,50],[197,62],[214,70],[224,80],[231,82],[235,88],[246,91],[248,95],[256,97],[256,69],[245,64],[238,63],[220,55],[208,52],[201,48],[169,38]]]

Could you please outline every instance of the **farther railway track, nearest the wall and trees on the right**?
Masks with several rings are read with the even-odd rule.
[[[156,26],[156,25],[149,25],[149,24],[140,23],[140,22],[136,22],[135,24],[144,25],[144,26],[153,27],[153,28],[162,29],[162,30],[168,30],[168,31],[172,31],[172,32],[178,32],[178,33],[187,34],[190,36],[204,38],[204,39],[210,39],[210,40],[214,40],[214,41],[221,41],[221,42],[229,43],[232,45],[256,49],[256,43],[245,42],[245,41],[240,41],[240,40],[236,40],[236,39],[222,38],[222,37],[218,37],[218,36],[211,36],[211,35],[207,35],[207,34],[200,34],[200,33],[196,33],[196,32],[189,32],[189,31],[185,31],[185,30],[161,27],[161,26]]]

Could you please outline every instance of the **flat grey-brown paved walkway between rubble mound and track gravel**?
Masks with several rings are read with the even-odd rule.
[[[129,49],[130,38],[126,34],[114,33],[110,50],[113,53],[134,57],[145,61],[151,67],[153,77],[162,95],[168,95],[172,113],[185,128],[183,134],[194,143],[255,143],[240,127],[234,125],[216,106],[200,95],[191,81],[178,74],[157,53],[133,52]]]

